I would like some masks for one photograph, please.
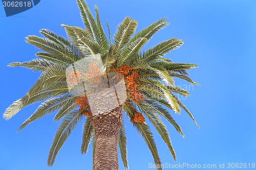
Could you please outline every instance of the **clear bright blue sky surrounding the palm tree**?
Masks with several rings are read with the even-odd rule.
[[[104,30],[108,21],[112,35],[125,16],[139,22],[137,30],[162,17],[168,18],[170,25],[157,33],[147,47],[169,38],[180,38],[184,45],[165,57],[199,65],[189,73],[201,86],[190,86],[191,95],[183,102],[194,114],[200,130],[184,111],[181,115],[172,114],[185,138],[165,121],[177,153],[176,163],[256,163],[256,1],[87,2],[93,14],[97,4]],[[27,44],[25,37],[40,36],[40,29],[66,36],[61,23],[83,27],[74,0],[41,0],[34,8],[11,17],[6,17],[0,6],[1,114],[21,98],[39,76],[38,72],[7,67],[7,64],[35,58],[38,50]],[[176,83],[181,87],[188,85],[184,81]],[[53,121],[53,115],[16,133],[37,106],[24,108],[9,121],[0,118],[0,170],[92,169],[91,147],[86,156],[80,154],[82,123],[63,145],[53,167],[47,166],[48,152],[59,125]],[[148,163],[153,163],[153,157],[146,144],[129,120],[125,126],[130,169],[150,169]],[[174,164],[165,143],[153,132],[162,163]],[[120,169],[124,169],[121,161]]]

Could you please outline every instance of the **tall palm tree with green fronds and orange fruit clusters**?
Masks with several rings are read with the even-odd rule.
[[[27,43],[41,50],[35,54],[38,58],[8,65],[27,67],[40,71],[41,75],[23,98],[7,108],[4,118],[10,119],[22,108],[42,102],[20,126],[18,130],[20,131],[34,120],[57,111],[54,120],[62,122],[49,152],[49,166],[53,165],[58,151],[72,130],[78,123],[84,122],[81,153],[86,154],[92,142],[93,169],[118,169],[118,145],[121,159],[127,169],[126,137],[122,118],[124,116],[130,118],[130,122],[144,139],[155,164],[161,162],[150,126],[145,123],[146,120],[154,126],[176,160],[169,133],[160,116],[168,120],[177,132],[184,136],[168,109],[180,113],[182,108],[195,123],[196,121],[177,96],[178,94],[188,96],[188,91],[176,86],[174,78],[198,85],[187,73],[188,69],[197,65],[174,63],[170,59],[163,58],[164,55],[181,46],[182,40],[171,38],[142,51],[142,47],[152,36],[167,25],[166,19],[160,19],[135,33],[137,21],[126,17],[118,25],[112,40],[110,31],[109,39],[103,32],[97,6],[95,6],[95,19],[83,0],[77,0],[77,3],[86,29],[62,25],[69,39],[49,30],[40,30],[45,38],[37,36],[26,38]],[[72,81],[72,77],[68,79],[66,76],[69,65],[91,54],[100,55],[106,73],[119,72],[124,77],[127,90],[127,100],[121,106],[96,116],[91,114],[87,96],[72,95],[69,92],[67,82]],[[196,125],[198,126],[197,123]]]

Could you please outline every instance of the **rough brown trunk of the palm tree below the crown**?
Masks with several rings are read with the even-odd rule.
[[[96,138],[93,170],[118,170],[117,143],[121,118],[121,107],[93,116]]]

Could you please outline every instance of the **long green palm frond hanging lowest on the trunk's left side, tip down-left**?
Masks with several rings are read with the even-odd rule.
[[[79,111],[71,112],[66,116],[62,123],[60,124],[57,132],[55,133],[52,147],[49,152],[47,164],[52,166],[55,160],[56,155],[58,154],[60,148],[70,136],[71,131],[76,128],[77,123],[80,122],[82,118],[82,113]]]

